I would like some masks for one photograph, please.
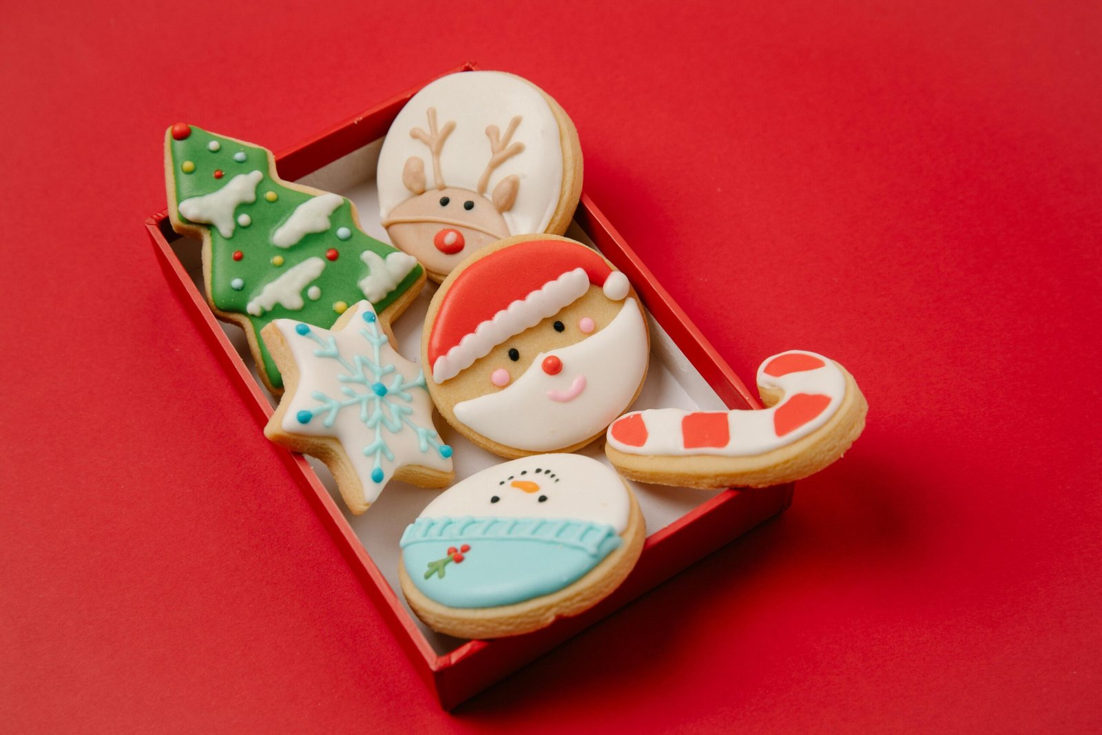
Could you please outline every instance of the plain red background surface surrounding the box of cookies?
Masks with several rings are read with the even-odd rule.
[[[1102,726],[1098,3],[91,4],[0,23],[6,726]],[[172,122],[280,150],[467,58],[570,111],[737,372],[814,349],[872,408],[779,521],[447,715],[142,221]]]

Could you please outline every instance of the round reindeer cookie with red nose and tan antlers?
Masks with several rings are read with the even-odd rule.
[[[495,240],[565,233],[582,191],[582,150],[574,123],[536,85],[461,72],[398,114],[377,182],[390,240],[441,281]]]

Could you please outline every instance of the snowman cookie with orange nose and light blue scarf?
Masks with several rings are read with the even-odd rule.
[[[462,638],[528,633],[615,590],[646,536],[620,477],[577,454],[484,469],[402,534],[402,592],[429,627]]]

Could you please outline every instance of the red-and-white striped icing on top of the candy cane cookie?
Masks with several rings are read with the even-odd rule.
[[[822,428],[845,399],[845,376],[815,353],[774,355],[761,363],[757,382],[784,398],[761,411],[635,411],[608,426],[608,445],[645,456],[754,456]]]

